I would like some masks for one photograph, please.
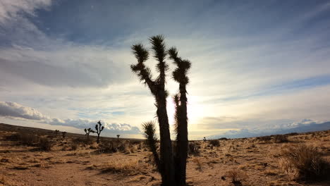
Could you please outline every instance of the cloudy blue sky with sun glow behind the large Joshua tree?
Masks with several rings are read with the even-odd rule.
[[[192,61],[190,139],[322,123],[329,28],[329,1],[4,0],[0,121],[80,132],[103,120],[105,135],[142,137],[155,109],[130,46],[162,34]],[[172,125],[170,97],[168,112]]]

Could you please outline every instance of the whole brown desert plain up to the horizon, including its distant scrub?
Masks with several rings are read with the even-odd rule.
[[[330,185],[298,178],[285,151],[302,144],[325,163],[330,130],[245,139],[191,141],[188,185]],[[291,149],[292,150],[292,149]],[[330,178],[329,169],[326,176]],[[144,140],[0,124],[0,185],[161,185]]]

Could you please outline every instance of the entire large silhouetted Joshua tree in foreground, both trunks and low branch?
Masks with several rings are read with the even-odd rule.
[[[149,52],[142,44],[135,44],[132,46],[133,54],[137,58],[138,63],[131,65],[131,70],[138,75],[140,81],[145,83],[152,92],[157,107],[157,118],[159,123],[160,134],[160,160],[157,168],[161,173],[162,185],[177,185],[183,186],[185,183],[185,169],[186,161],[188,157],[188,116],[187,116],[187,90],[189,79],[187,77],[188,70],[190,69],[190,61],[183,60],[178,57],[178,51],[176,48],[171,48],[166,51],[164,44],[164,37],[157,35],[150,37],[149,41],[152,44],[152,50],[154,51],[154,58],[158,61],[157,71],[159,76],[152,80],[151,70],[145,66],[145,61],[149,58]],[[166,111],[166,97],[167,92],[165,89],[165,74],[169,69],[168,65],[164,61],[166,55],[169,54],[169,58],[173,60],[173,63],[177,68],[173,71],[173,79],[179,83],[179,92],[173,99],[176,105],[175,113],[175,131],[176,131],[176,154],[173,156],[171,149],[171,138],[169,134],[169,119]],[[155,151],[156,138],[154,137],[154,124],[144,123],[145,137],[147,138],[147,144],[149,149],[154,154],[155,161],[158,158],[158,154]],[[155,140],[156,139],[156,140]]]

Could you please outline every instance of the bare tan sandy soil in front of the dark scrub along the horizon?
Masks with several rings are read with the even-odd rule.
[[[5,140],[14,133],[0,131],[0,185],[160,185],[160,175],[142,143],[121,152],[99,153],[96,144],[80,144],[73,150],[71,137],[53,137],[56,145],[51,151],[40,151]],[[243,178],[236,185],[330,185],[329,181],[290,180],[279,167],[280,149],[298,143],[319,147],[329,161],[329,131],[293,135],[287,143],[256,138],[220,140],[219,147],[195,143],[200,146],[200,155],[188,159],[189,185],[234,185],[225,176],[231,170],[238,170]]]

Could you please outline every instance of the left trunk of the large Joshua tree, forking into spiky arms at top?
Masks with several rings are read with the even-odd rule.
[[[158,61],[156,66],[159,73],[158,77],[153,80],[150,68],[145,66],[145,61],[149,58],[149,51],[147,51],[142,44],[134,44],[132,46],[133,54],[138,60],[138,63],[131,65],[130,69],[133,73],[138,75],[141,82],[149,87],[156,101],[154,105],[157,107],[159,123],[161,181],[164,186],[170,186],[176,184],[172,144],[169,132],[169,118],[166,111],[166,97],[168,93],[165,89],[165,76],[166,71],[169,69],[168,64],[165,62],[167,51],[163,36],[157,35],[150,37],[149,41],[152,44],[153,56]]]

